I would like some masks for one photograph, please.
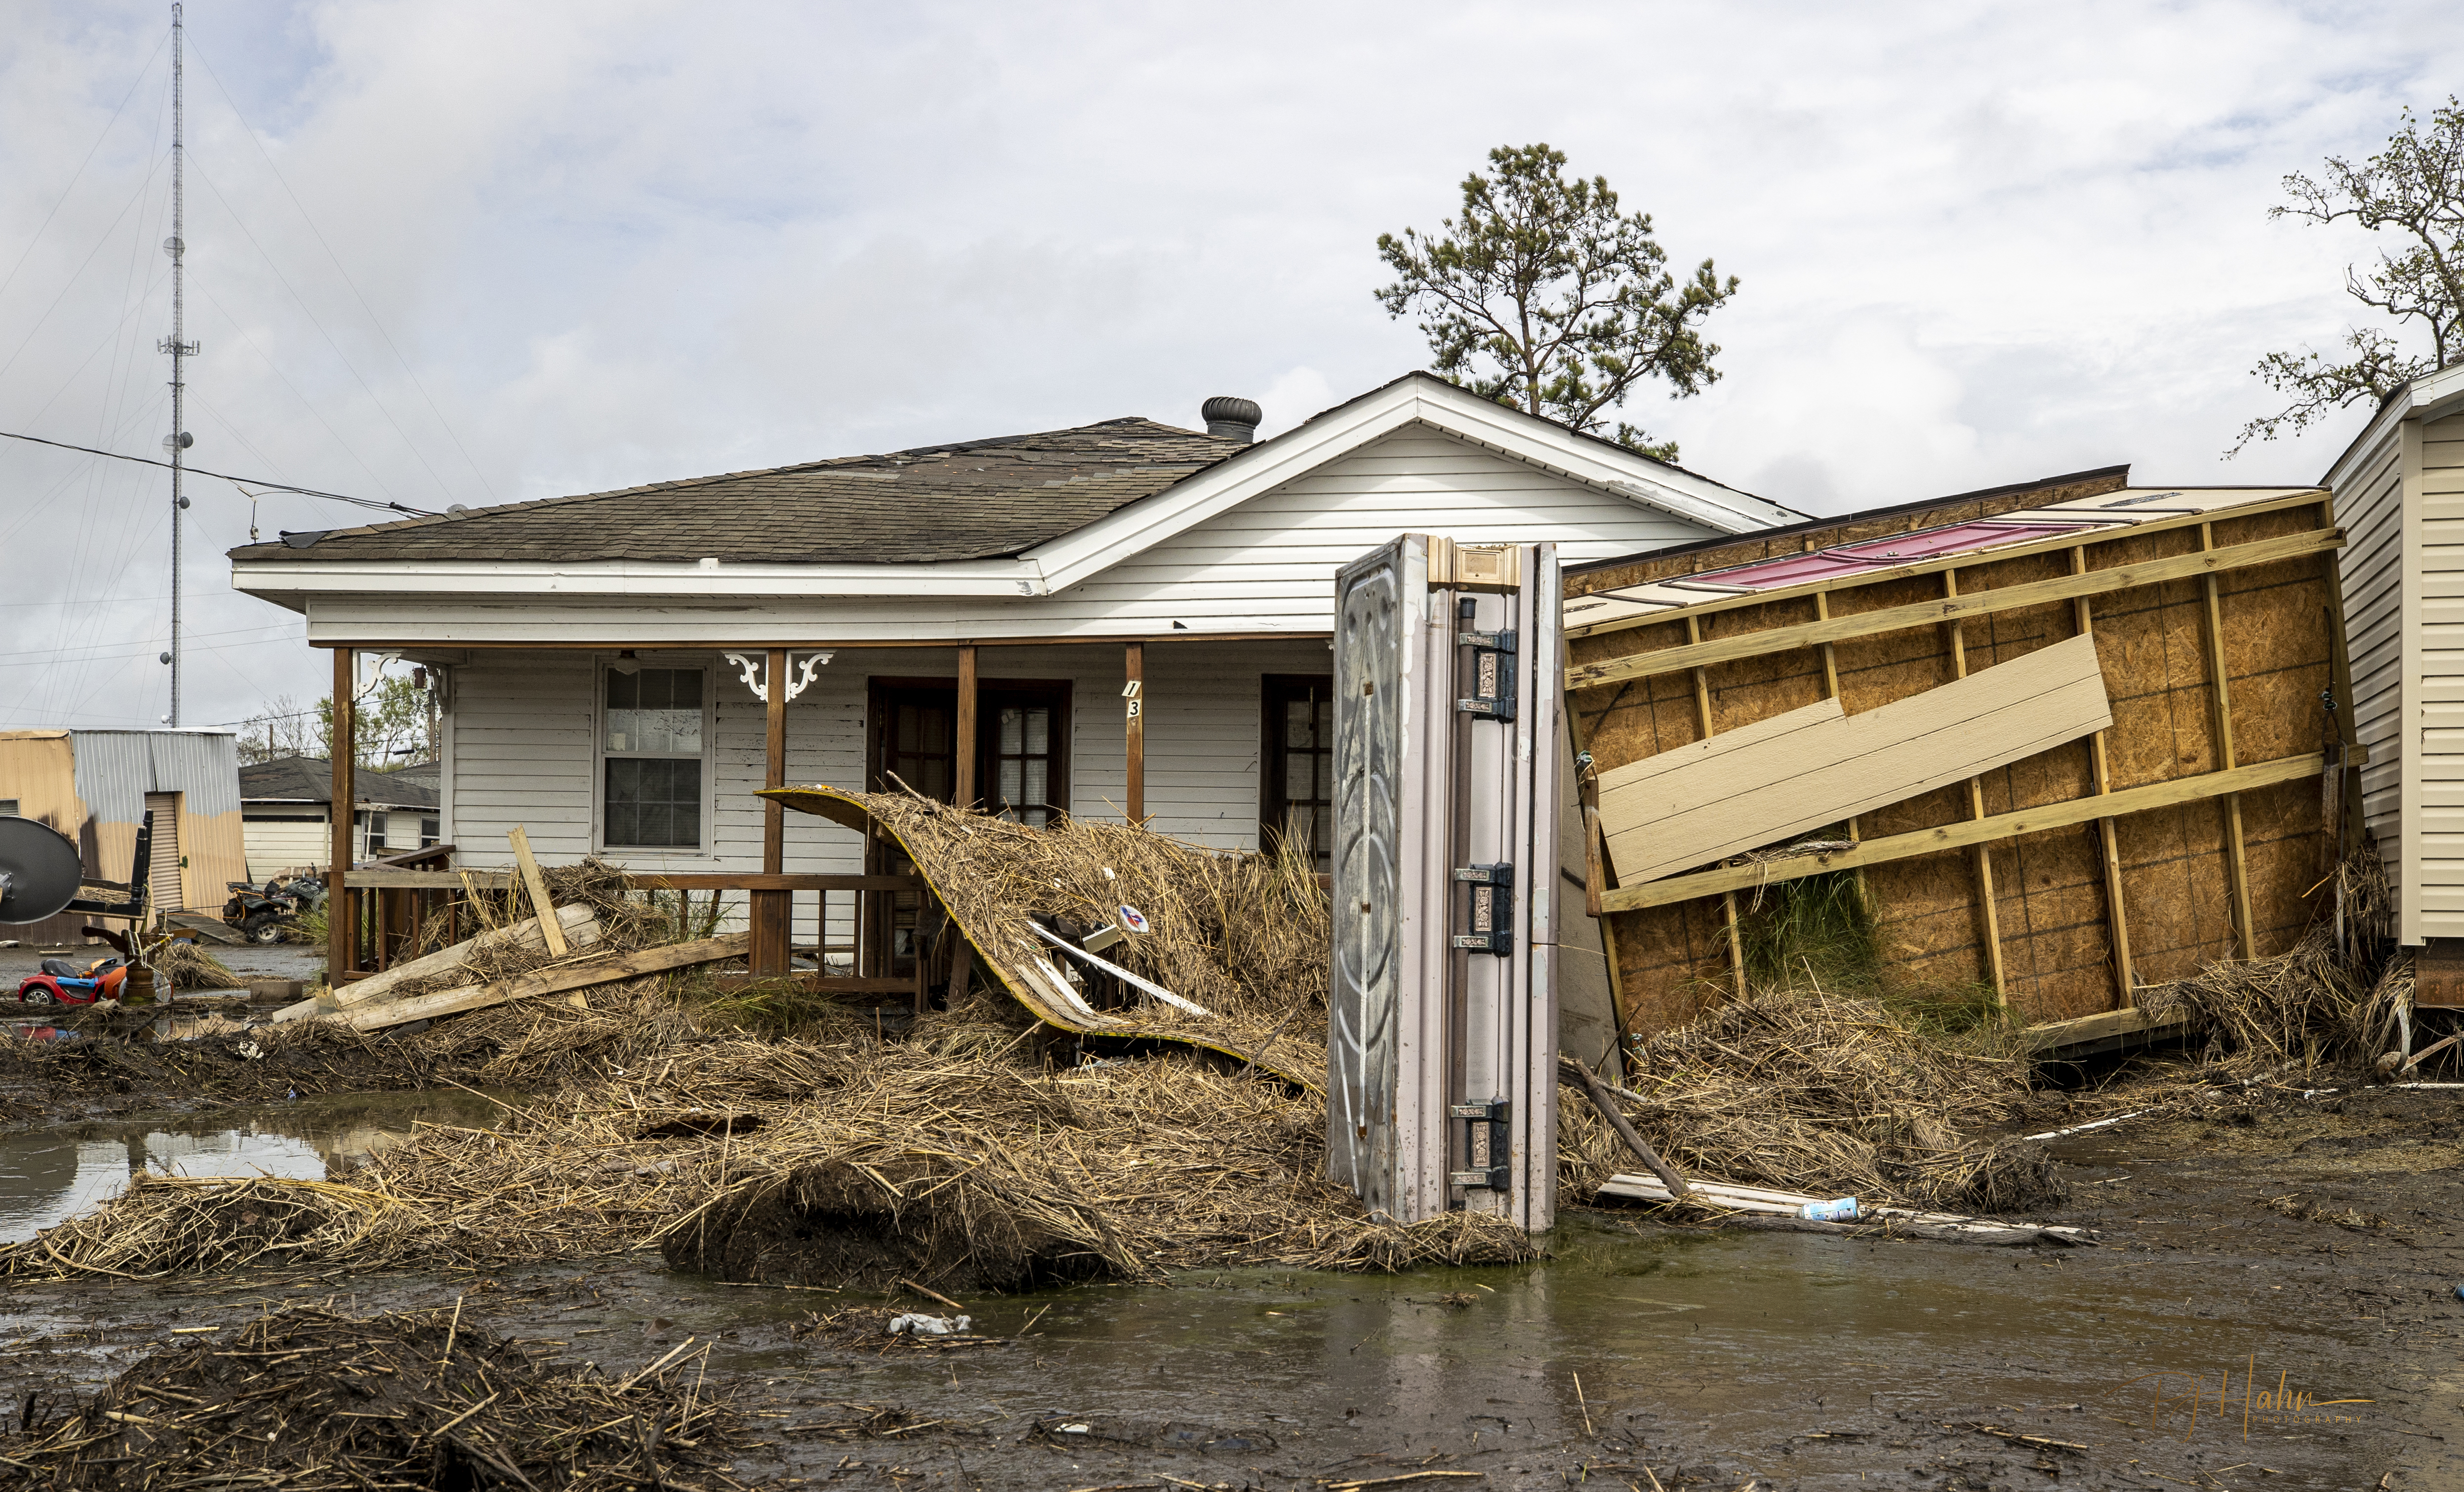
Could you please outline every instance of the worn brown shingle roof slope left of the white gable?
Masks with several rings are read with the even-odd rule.
[[[1247,451],[1151,419],[283,534],[232,559],[931,564],[1000,559]]]

